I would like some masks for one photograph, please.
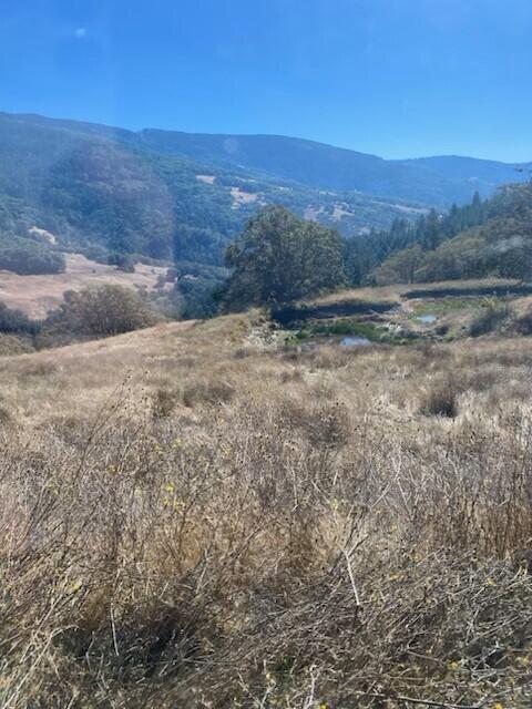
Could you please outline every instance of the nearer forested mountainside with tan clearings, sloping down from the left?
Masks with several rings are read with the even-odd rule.
[[[356,192],[319,191],[213,154],[192,160],[108,126],[0,114],[0,240],[33,227],[57,248],[219,263],[257,207],[283,204],[345,235],[421,207]],[[10,236],[11,235],[11,236]]]

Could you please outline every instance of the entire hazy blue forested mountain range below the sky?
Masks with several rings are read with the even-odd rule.
[[[24,273],[28,260],[32,273],[55,271],[62,261],[53,251],[68,249],[113,263],[141,255],[219,265],[227,244],[267,204],[358,243],[370,229],[383,233],[399,217],[408,224],[431,206],[467,202],[475,186],[491,193],[526,169],[456,157],[385,161],[282,136],[134,133],[0,113],[0,268]]]

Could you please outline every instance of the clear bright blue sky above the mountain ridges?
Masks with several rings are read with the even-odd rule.
[[[0,110],[532,160],[532,0],[3,0]]]

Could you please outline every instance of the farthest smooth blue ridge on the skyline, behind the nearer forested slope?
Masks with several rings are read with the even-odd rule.
[[[468,202],[519,179],[514,165],[471,157],[386,161],[376,155],[277,135],[205,135],[144,130],[144,142],[172,155],[262,171],[321,189],[359,191],[433,206]],[[521,166],[525,172],[532,164]]]

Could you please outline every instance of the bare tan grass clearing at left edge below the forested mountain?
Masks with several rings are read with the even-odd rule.
[[[155,287],[157,278],[166,273],[166,268],[160,266],[136,264],[135,273],[127,274],[115,266],[92,261],[81,254],[65,254],[65,260],[63,274],[19,276],[0,270],[0,301],[31,318],[44,318],[61,304],[65,290],[115,284],[146,288],[150,291]]]

